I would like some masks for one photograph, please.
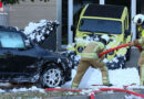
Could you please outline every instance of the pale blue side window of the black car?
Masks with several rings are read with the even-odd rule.
[[[0,31],[1,47],[24,48],[24,43],[21,34],[13,32]]]

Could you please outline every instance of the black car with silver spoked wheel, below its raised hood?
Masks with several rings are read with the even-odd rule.
[[[0,81],[56,87],[71,80],[69,61],[41,48],[22,32],[0,26]]]

